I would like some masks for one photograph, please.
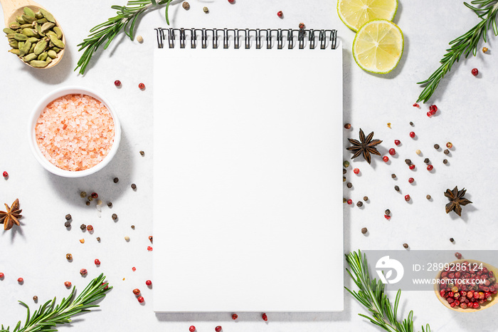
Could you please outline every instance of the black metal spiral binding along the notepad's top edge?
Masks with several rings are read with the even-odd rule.
[[[180,44],[180,48],[186,48],[187,34],[190,39],[190,47],[197,47],[197,37],[201,35],[201,47],[208,47],[208,36],[213,36],[212,46],[218,48],[218,38],[223,37],[223,48],[230,47],[230,37],[233,36],[233,48],[240,48],[240,33],[244,35],[244,48],[250,48],[251,37],[254,37],[256,49],[262,48],[261,33],[264,33],[266,48],[272,48],[272,37],[276,36],[277,49],[284,48],[284,35],[287,37],[287,48],[295,48],[295,36],[297,35],[297,48],[304,49],[305,41],[309,41],[309,48],[316,48],[315,39],[318,37],[320,49],[327,48],[327,41],[330,41],[332,49],[337,48],[337,31],[336,30],[314,30],[314,29],[259,29],[259,28],[156,28],[157,46],[164,48],[164,43],[167,41],[169,48],[174,48],[176,38]]]

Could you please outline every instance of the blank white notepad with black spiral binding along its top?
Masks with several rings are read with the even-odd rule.
[[[158,28],[154,311],[341,311],[334,30]]]

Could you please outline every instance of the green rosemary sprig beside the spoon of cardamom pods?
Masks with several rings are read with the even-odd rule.
[[[104,49],[109,47],[112,40],[122,31],[133,40],[137,19],[152,6],[166,4],[166,23],[169,25],[168,9],[171,1],[172,0],[130,0],[127,2],[126,6],[111,6],[112,9],[117,10],[116,16],[91,28],[88,37],[85,38],[82,43],[78,44],[78,46],[80,46],[78,51],[85,51],[83,51],[80,60],[78,60],[78,66],[76,66],[75,71],[80,68],[80,74],[85,73],[88,63],[90,63],[90,59],[100,46],[104,44]]]

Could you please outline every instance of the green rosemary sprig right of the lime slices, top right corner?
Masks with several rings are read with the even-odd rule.
[[[478,24],[471,28],[467,33],[450,41],[450,48],[446,50],[445,56],[441,59],[441,66],[425,81],[417,84],[423,85],[425,88],[418,96],[419,101],[426,103],[430,96],[433,95],[440,81],[445,77],[446,73],[451,70],[451,66],[460,60],[460,56],[467,58],[470,52],[474,56],[477,54],[477,44],[481,38],[484,43],[487,41],[487,31],[493,28],[494,36],[498,36],[497,28],[497,12],[498,0],[474,0],[470,2],[472,5],[464,2],[465,6],[475,11],[475,14],[482,19]]]

